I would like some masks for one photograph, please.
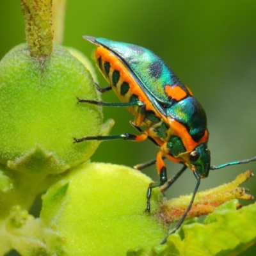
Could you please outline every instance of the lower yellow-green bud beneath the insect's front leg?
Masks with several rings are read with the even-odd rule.
[[[86,163],[72,169],[43,197],[47,248],[64,255],[118,256],[141,246],[150,251],[167,232],[159,189],[153,189],[151,212],[145,212],[150,182],[125,166]]]

